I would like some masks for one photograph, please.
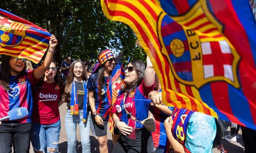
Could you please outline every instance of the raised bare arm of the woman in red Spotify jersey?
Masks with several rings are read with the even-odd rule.
[[[147,67],[144,73],[144,82],[147,87],[152,86],[154,84],[155,75],[156,72],[154,70],[154,67],[149,59],[149,56],[147,56]]]

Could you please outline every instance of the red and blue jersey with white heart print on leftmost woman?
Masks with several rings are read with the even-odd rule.
[[[10,76],[9,87],[10,90],[6,91],[0,86],[0,117],[7,116],[9,110],[17,107],[26,107],[28,109],[28,117],[19,119],[18,123],[31,122],[31,115],[33,109],[33,97],[31,86],[35,85],[38,79],[34,76],[34,71],[29,71],[24,76]]]

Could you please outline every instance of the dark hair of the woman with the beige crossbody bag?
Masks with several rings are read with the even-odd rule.
[[[137,80],[135,82],[131,83],[131,85],[126,84],[123,88],[123,92],[132,92],[134,91],[141,83],[144,78],[144,72],[145,72],[145,64],[140,60],[132,60],[131,65],[135,68],[135,71],[138,75]]]

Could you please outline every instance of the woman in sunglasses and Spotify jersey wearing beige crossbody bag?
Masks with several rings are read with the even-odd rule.
[[[150,102],[133,99],[147,99],[149,92],[154,90],[155,74],[148,57],[146,69],[142,61],[134,60],[128,64],[125,70],[125,87],[122,88],[112,109],[115,126],[121,134],[113,153],[154,151],[150,132],[137,122],[148,117]],[[130,116],[136,117],[137,120],[134,121]]]

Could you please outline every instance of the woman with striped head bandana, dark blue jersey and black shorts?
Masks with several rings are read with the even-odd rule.
[[[111,72],[114,69],[114,54],[106,49],[99,54],[99,64],[95,66],[93,74],[88,80],[88,99],[92,110],[92,121],[95,135],[98,136],[100,153],[107,153],[107,122],[109,119],[109,101],[107,86]],[[113,136],[113,141],[115,140]]]

